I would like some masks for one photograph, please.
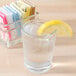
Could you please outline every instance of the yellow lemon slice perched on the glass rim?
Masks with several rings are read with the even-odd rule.
[[[70,25],[60,20],[52,20],[52,21],[45,22],[39,27],[37,34],[39,36],[43,34],[51,34],[54,30],[57,30],[56,31],[57,37],[73,36],[73,31]]]

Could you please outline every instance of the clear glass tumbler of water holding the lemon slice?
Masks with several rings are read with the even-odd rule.
[[[51,69],[56,39],[56,31],[38,36],[37,29],[41,24],[39,20],[34,19],[24,24],[22,28],[24,65],[35,73],[44,73]]]

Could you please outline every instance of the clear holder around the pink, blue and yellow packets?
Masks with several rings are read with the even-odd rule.
[[[35,15],[31,15],[27,18],[25,18],[24,20],[21,19],[21,20],[18,20],[16,22],[13,22],[13,23],[10,23],[10,24],[2,24],[0,23],[0,25],[3,25],[3,26],[8,26],[8,25],[14,25],[16,23],[21,23],[20,26],[16,27],[16,28],[12,28],[12,29],[9,29],[9,30],[3,30],[2,28],[0,28],[0,31],[6,33],[6,41],[4,41],[3,39],[1,39],[1,34],[0,34],[0,43],[3,44],[5,47],[7,48],[10,48],[10,47],[13,47],[19,43],[22,43],[22,40],[21,40],[21,36],[15,36],[15,31],[18,29],[18,28],[22,28],[22,26],[26,23],[28,23],[30,20],[33,20],[33,19],[37,19],[38,18],[38,13],[36,12]],[[9,36],[8,36],[8,33],[11,32],[11,36],[13,36],[13,39],[12,40],[9,40]],[[15,36],[15,37],[14,37]]]

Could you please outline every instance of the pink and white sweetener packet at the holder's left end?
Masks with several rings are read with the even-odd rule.
[[[3,26],[2,25],[2,24],[6,25],[6,24],[8,24],[8,22],[7,22],[6,15],[4,13],[2,13],[1,11],[0,11],[0,23],[1,23],[0,24],[0,28],[3,31],[6,31],[6,30],[10,29],[9,26]],[[6,32],[3,32],[3,31],[0,30],[1,39],[4,40],[4,41],[6,41],[7,40],[7,36],[8,36],[9,40],[11,40],[11,33],[10,32],[6,33]]]

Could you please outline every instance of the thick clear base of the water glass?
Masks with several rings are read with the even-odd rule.
[[[26,63],[24,63],[24,65],[30,72],[34,72],[34,73],[38,73],[38,74],[48,72],[52,68],[52,65],[46,65],[46,66],[42,66],[42,67],[41,66],[40,67],[31,66]]]

